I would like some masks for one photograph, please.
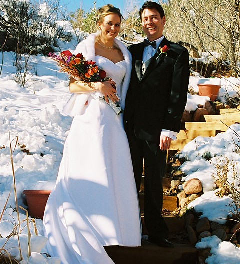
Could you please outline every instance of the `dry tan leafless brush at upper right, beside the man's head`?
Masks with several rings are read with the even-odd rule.
[[[207,64],[239,75],[239,0],[170,0],[164,8],[168,38],[189,48],[202,75]],[[208,61],[199,59],[202,52],[208,52]]]

